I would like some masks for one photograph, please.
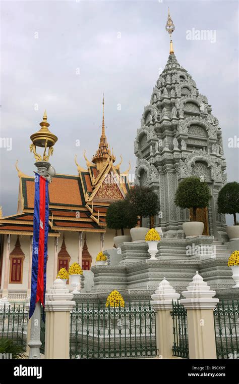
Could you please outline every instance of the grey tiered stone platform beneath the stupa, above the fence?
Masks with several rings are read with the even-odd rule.
[[[157,260],[149,260],[147,243],[123,243],[121,251],[109,250],[108,265],[95,265],[92,288],[84,296],[103,301],[113,289],[120,291],[126,300],[150,300],[159,282],[166,277],[176,292],[186,290],[195,272],[204,278],[212,290],[224,299],[239,298],[239,289],[227,266],[231,253],[229,243],[217,241],[213,236],[190,239],[163,238],[158,244]]]

